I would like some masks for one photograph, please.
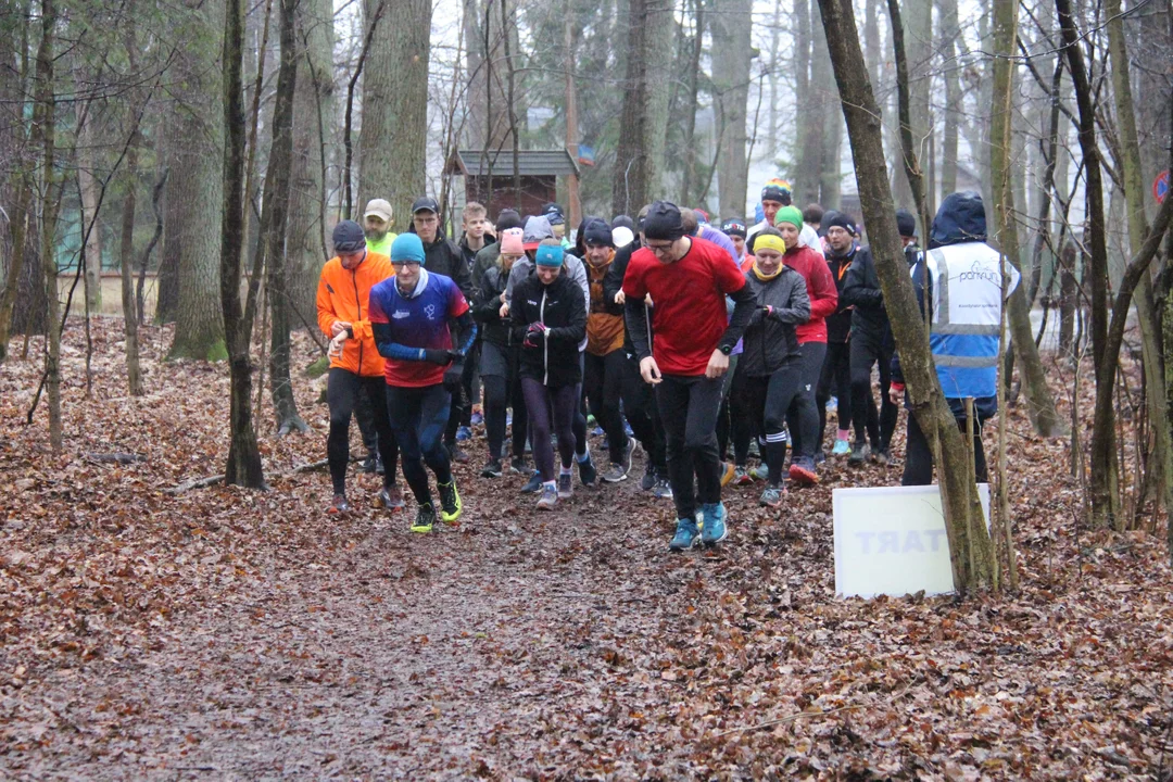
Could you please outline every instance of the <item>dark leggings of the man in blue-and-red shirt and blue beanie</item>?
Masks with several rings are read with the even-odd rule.
[[[452,464],[443,447],[450,409],[452,395],[442,383],[419,388],[387,386],[387,416],[404,455],[404,477],[420,505],[432,502],[425,462],[436,474],[436,481],[452,483]]]

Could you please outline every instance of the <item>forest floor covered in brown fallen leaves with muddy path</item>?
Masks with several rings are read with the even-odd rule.
[[[1164,524],[1080,528],[1069,442],[1032,436],[1021,409],[1009,483],[1021,590],[842,599],[832,489],[896,484],[899,468],[835,462],[778,511],[753,488],[727,490],[728,540],[686,555],[667,551],[671,504],[636,481],[536,515],[520,476],[475,477],[480,437],[456,472],[465,516],[430,536],[371,506],[371,476],[352,480],[359,510],[344,518],[323,512],[325,471],[267,492],[171,496],[222,471],[228,368],[164,363],[169,331],[147,328],[148,393],[131,399],[121,322],[94,329],[89,395],[79,322],[66,335],[61,454],[43,403],[25,426],[40,361],[20,361],[14,340],[0,366],[0,777],[1164,780],[1173,768]],[[314,358],[304,335],[297,354]],[[319,387],[294,385],[312,431],[273,440],[266,401],[270,472],[325,454]],[[1060,397],[1067,412],[1070,390]],[[143,461],[91,457],[115,451]]]

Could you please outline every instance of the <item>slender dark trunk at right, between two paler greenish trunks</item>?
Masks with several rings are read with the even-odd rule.
[[[1114,526],[1120,518],[1120,487],[1116,462],[1116,424],[1112,393],[1116,386],[1116,356],[1107,356],[1107,231],[1104,225],[1104,184],[1100,176],[1100,154],[1096,141],[1096,107],[1092,87],[1084,67],[1079,30],[1071,12],[1070,0],[1056,0],[1059,30],[1071,81],[1079,107],[1079,149],[1084,156],[1084,183],[1087,198],[1087,231],[1090,266],[1085,266],[1084,281],[1090,283],[1092,311],[1092,358],[1096,363],[1096,412],[1092,421],[1091,505],[1093,526]],[[1089,279],[1090,278],[1090,279]],[[1125,313],[1126,314],[1126,313]]]

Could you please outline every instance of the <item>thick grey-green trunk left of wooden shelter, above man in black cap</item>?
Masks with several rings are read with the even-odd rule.
[[[373,18],[379,0],[364,0]],[[432,0],[398,0],[375,27],[362,68],[359,204],[386,198],[409,219],[427,178]]]

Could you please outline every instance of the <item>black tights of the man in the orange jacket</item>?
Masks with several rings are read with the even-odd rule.
[[[351,414],[359,399],[365,397],[371,409],[373,428],[378,434],[379,456],[382,457],[382,485],[395,484],[395,462],[399,447],[387,419],[387,381],[381,375],[362,378],[334,367],[326,379],[326,403],[330,407],[330,436],[326,438],[326,458],[334,494],[346,494],[346,465],[351,461]]]

